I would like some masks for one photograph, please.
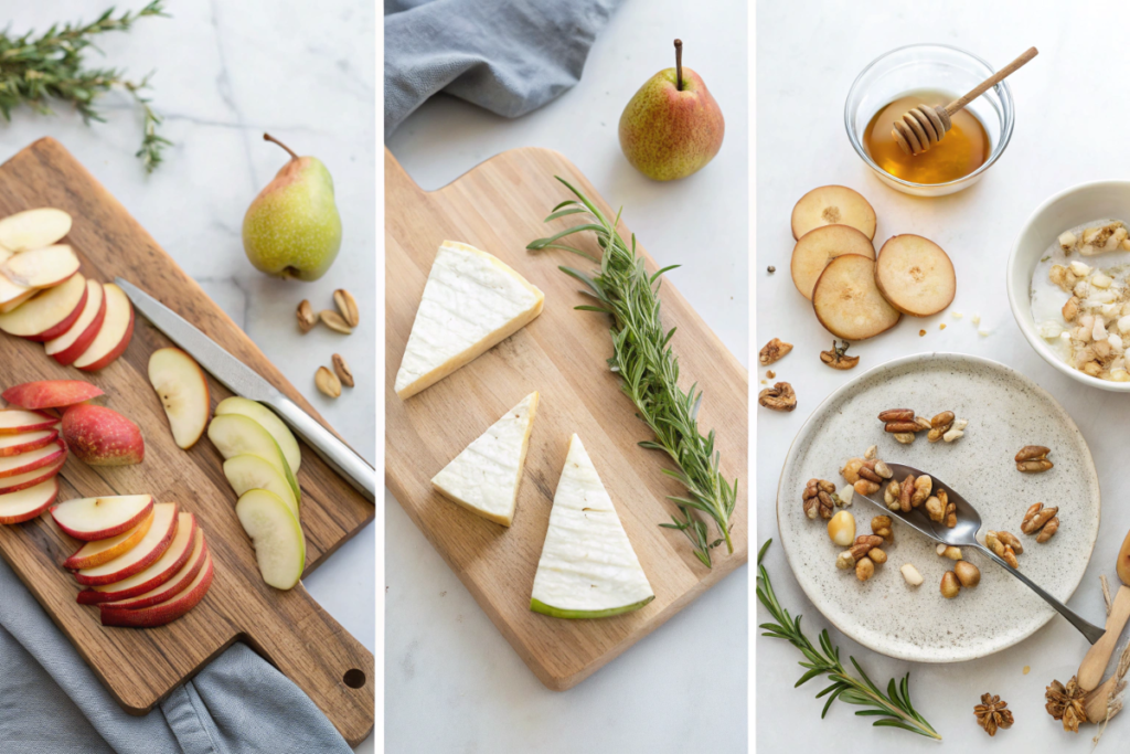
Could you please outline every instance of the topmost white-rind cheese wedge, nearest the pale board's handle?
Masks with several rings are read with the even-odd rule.
[[[525,327],[545,295],[502,260],[466,243],[444,241],[397,372],[395,390],[410,398]]]

